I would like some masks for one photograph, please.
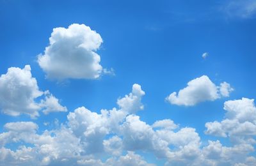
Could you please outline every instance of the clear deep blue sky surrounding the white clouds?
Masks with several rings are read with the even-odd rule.
[[[93,112],[118,107],[116,100],[141,85],[145,96],[141,121],[153,124],[172,119],[180,127],[196,128],[204,144],[205,123],[225,118],[223,103],[256,98],[256,15],[239,16],[230,1],[0,1],[0,74],[10,67],[30,64],[40,90],[49,89],[68,112],[84,106]],[[54,27],[85,24],[103,39],[97,54],[104,68],[115,75],[99,79],[45,78],[36,62],[44,54]],[[209,56],[202,57],[207,52]],[[67,66],[68,67],[68,66]],[[228,82],[234,91],[226,98],[193,107],[172,105],[165,98],[179,92],[189,80],[207,75],[216,85]],[[8,122],[33,121],[42,132],[44,122],[67,121],[68,112],[41,114],[37,119],[0,115],[0,132]],[[49,126],[49,128],[54,128]],[[49,130],[48,128],[48,130]],[[230,145],[228,139],[220,139]],[[141,153],[141,152],[138,152]],[[157,163],[152,154],[144,155]],[[158,161],[159,165],[164,162]]]

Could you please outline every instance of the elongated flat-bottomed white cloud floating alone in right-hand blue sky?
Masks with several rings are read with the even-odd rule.
[[[188,82],[188,86],[179,93],[173,92],[166,100],[175,105],[193,106],[200,102],[214,101],[222,96],[229,96],[234,89],[227,82],[216,86],[206,75]]]

